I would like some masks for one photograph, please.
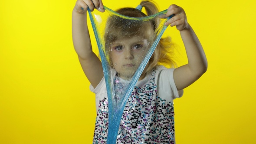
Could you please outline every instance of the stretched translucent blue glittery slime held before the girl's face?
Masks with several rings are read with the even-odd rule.
[[[152,16],[134,18],[120,15],[107,7],[104,13],[97,10],[91,12],[89,9],[88,12],[102,60],[108,94],[108,99],[105,100],[108,105],[107,144],[116,144],[126,101],[167,28],[164,23],[171,16],[166,18],[167,10],[164,10]],[[159,21],[154,24],[154,31],[151,33],[150,30],[145,30],[149,24],[152,26],[154,20]],[[125,70],[120,70],[118,65],[122,63],[115,61],[114,55],[125,47],[117,45],[113,48],[113,45],[124,39],[128,42],[130,39],[138,39],[141,44],[136,45],[136,49],[132,51],[135,63],[128,63]],[[113,54],[113,51],[117,52]]]

